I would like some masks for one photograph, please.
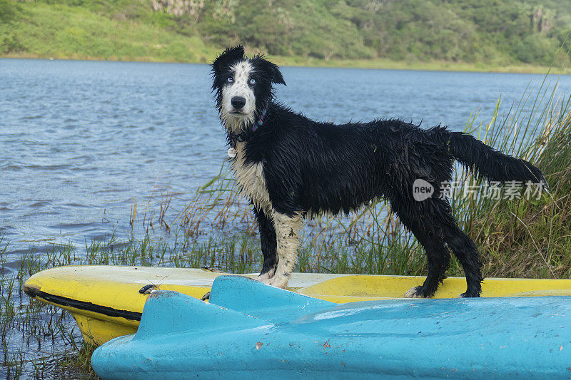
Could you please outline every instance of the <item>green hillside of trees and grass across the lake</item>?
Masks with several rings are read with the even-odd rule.
[[[0,0],[0,54],[204,61],[273,56],[490,65],[570,60],[569,0]]]

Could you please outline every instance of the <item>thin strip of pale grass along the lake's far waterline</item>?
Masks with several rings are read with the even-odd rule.
[[[8,53],[0,55],[0,58],[14,59],[46,59],[58,61],[108,61],[108,62],[144,62],[144,63],[194,63],[208,64],[208,60],[177,60],[162,59],[153,56],[139,57],[97,57],[80,54],[45,55],[34,53]],[[507,66],[489,66],[485,63],[465,63],[450,61],[390,61],[388,59],[363,59],[363,60],[337,60],[325,61],[317,58],[289,57],[289,56],[269,56],[278,66],[283,67],[311,67],[311,68],[360,68],[373,70],[410,70],[410,71],[447,71],[447,72],[469,72],[469,73],[520,73],[520,74],[554,74],[571,75],[571,68],[534,66],[525,64],[510,64]]]

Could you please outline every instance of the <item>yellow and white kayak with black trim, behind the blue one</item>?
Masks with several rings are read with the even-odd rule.
[[[30,297],[68,310],[84,340],[103,344],[136,332],[151,289],[174,290],[200,299],[213,280],[226,273],[203,269],[80,265],[46,269],[24,284]],[[258,274],[244,274],[257,277]],[[330,302],[403,297],[425,277],[366,274],[293,273],[288,290]],[[434,298],[455,298],[465,291],[463,277],[444,280]],[[145,292],[147,290],[147,292]],[[482,297],[570,296],[571,279],[485,279]]]

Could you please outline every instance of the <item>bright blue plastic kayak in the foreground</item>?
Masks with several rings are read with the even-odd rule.
[[[211,302],[148,297],[136,334],[98,347],[102,379],[569,379],[571,297],[334,304],[218,277]]]

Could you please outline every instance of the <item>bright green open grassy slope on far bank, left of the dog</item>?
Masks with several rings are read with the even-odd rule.
[[[159,27],[152,14],[148,22],[126,22],[64,4],[25,3],[19,8],[13,26],[21,48],[4,52],[6,57],[206,62],[214,54],[196,36]]]

